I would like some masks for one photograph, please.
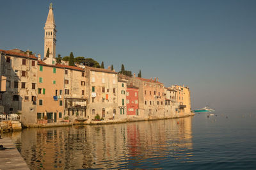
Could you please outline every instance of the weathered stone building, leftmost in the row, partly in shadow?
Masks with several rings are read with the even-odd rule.
[[[22,123],[36,123],[37,58],[19,49],[0,50],[0,55],[0,76],[6,77],[0,105],[5,113],[20,112]]]

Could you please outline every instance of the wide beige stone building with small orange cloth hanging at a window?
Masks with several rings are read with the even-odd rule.
[[[93,120],[97,114],[108,120],[117,113],[117,81],[116,72],[110,69],[86,66],[86,88],[88,91],[87,118]]]

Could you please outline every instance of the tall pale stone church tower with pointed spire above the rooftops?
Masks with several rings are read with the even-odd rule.
[[[44,27],[44,61],[49,65],[56,63],[56,25],[52,11],[52,3],[49,6],[49,13]],[[49,49],[49,55],[47,50]]]

